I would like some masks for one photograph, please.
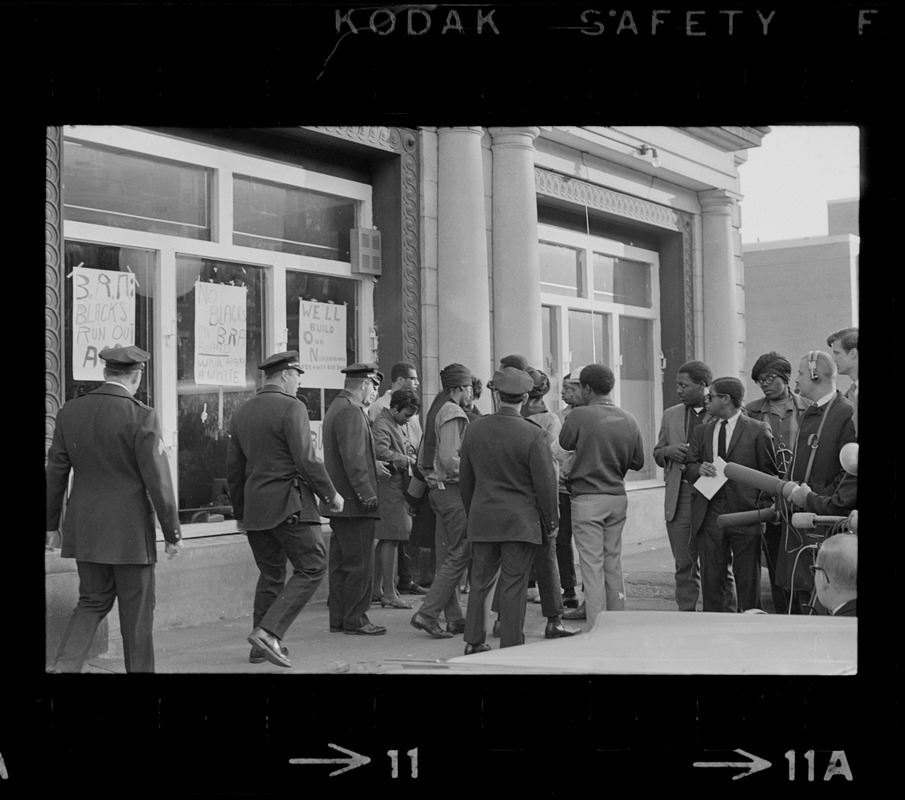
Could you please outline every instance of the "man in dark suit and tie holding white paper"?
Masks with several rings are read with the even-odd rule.
[[[766,422],[742,413],[744,384],[738,378],[717,378],[710,386],[707,411],[713,417],[694,432],[688,452],[686,477],[694,483],[702,475],[717,476],[714,461],[741,464],[768,475],[778,473],[773,434]],[[708,500],[695,491],[691,500],[691,529],[698,536],[704,611],[732,611],[726,602],[730,569],[735,577],[739,611],[760,608],[760,554],[762,523],[722,531],[717,517],[753,511],[761,505],[760,492],[738,481],[726,481]]]

